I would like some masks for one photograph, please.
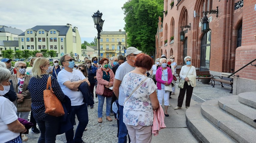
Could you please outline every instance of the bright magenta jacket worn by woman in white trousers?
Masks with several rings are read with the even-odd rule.
[[[158,67],[156,72],[156,81],[157,81],[157,89],[161,90],[161,83],[164,84],[166,81],[162,80],[162,67]],[[172,70],[171,68],[167,67],[167,73],[168,73],[168,84],[172,83],[173,76],[172,76]]]

